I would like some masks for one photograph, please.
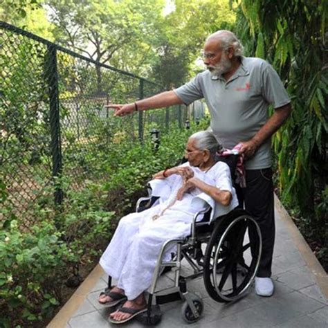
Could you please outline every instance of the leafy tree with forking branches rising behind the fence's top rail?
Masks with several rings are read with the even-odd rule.
[[[82,3],[81,3],[82,2]],[[162,0],[49,0],[56,41],[102,64],[127,69],[140,66],[156,36]],[[96,68],[98,90],[102,74]]]

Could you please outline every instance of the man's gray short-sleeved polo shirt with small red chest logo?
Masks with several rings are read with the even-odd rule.
[[[268,120],[269,104],[278,108],[291,102],[273,67],[252,57],[242,57],[242,64],[228,81],[204,71],[174,92],[185,104],[205,98],[210,127],[228,149],[255,136]],[[271,167],[270,139],[246,161],[247,170],[266,167]]]

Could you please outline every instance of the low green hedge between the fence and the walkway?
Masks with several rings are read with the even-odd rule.
[[[0,201],[5,204],[0,216],[7,217],[0,231],[0,313],[6,313],[0,316],[1,327],[27,327],[51,317],[62,302],[64,282],[75,268],[98,259],[118,219],[134,210],[136,194],[145,190],[145,182],[159,170],[176,165],[188,136],[207,126],[203,120],[199,125],[192,122],[189,130],[171,127],[170,134],[161,135],[157,150],[149,138],[144,143],[131,142],[124,134],[113,136],[109,148],[101,144],[85,148],[89,179],[76,188],[73,175],[57,178],[30,208],[35,224],[28,231],[21,229],[8,188],[0,183]],[[92,138],[86,140],[89,146],[92,143]],[[71,155],[85,146],[75,145]],[[55,186],[64,191],[61,208],[53,204]]]

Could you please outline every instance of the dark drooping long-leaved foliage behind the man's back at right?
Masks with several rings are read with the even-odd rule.
[[[322,244],[328,240],[327,216],[322,211],[328,176],[324,66],[328,8],[324,3],[243,0],[236,26],[246,54],[265,56],[291,95],[291,118],[273,138],[280,196],[285,205],[300,210],[306,222],[301,224],[304,235],[316,234]]]

